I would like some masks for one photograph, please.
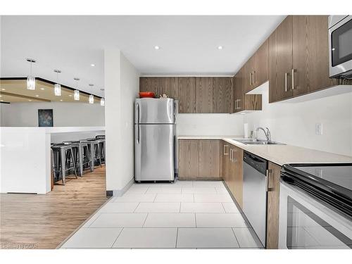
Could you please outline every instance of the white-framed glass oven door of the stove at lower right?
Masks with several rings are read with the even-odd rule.
[[[280,182],[279,249],[351,249],[352,220]]]

